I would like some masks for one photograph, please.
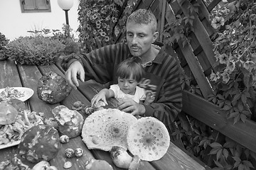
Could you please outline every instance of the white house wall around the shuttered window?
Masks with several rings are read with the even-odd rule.
[[[73,34],[78,38],[78,5],[80,0],[73,0],[73,7],[68,11],[68,21]],[[51,12],[21,13],[19,0],[0,0],[0,33],[9,40],[19,36],[31,35],[28,30],[43,28],[62,30],[65,12],[58,6],[57,0],[50,0]]]

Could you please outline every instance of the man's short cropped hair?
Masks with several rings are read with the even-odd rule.
[[[134,22],[137,24],[145,24],[149,25],[154,32],[156,32],[156,17],[154,16],[151,11],[146,9],[138,9],[137,11],[134,11],[128,18],[127,23]]]

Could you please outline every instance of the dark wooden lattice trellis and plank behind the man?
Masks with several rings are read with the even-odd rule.
[[[215,65],[212,43],[215,30],[210,26],[208,16],[220,0],[214,0],[208,6],[203,0],[196,0],[196,2],[200,6],[198,13],[194,13],[193,32],[188,35],[189,44],[184,47],[181,42],[166,45],[166,52],[177,58],[183,73],[190,77],[201,91],[201,96],[191,94],[187,90],[183,91],[183,112],[256,152],[256,123],[246,120],[245,123],[233,125],[233,121],[227,120],[218,106],[206,100],[208,95],[213,93],[208,78]],[[164,26],[177,14],[188,13],[188,3],[193,3],[193,1],[138,0],[134,9],[146,8],[154,13],[158,20],[159,41],[162,42]],[[124,35],[119,33],[116,42],[122,40],[123,37]],[[97,42],[97,46],[101,46],[100,42]]]

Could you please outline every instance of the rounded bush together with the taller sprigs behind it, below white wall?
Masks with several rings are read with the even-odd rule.
[[[9,42],[8,53],[11,60],[19,64],[48,65],[53,64],[61,55],[79,53],[80,45],[71,34],[72,29],[63,25],[60,30],[28,30],[31,36],[20,37]]]

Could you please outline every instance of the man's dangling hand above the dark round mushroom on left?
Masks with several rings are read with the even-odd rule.
[[[80,62],[73,62],[68,67],[67,72],[65,72],[65,79],[68,82],[68,85],[72,86],[74,89],[77,89],[79,86],[77,76],[82,82],[85,81],[85,69],[83,69]]]

